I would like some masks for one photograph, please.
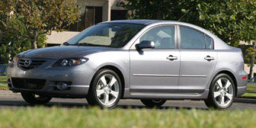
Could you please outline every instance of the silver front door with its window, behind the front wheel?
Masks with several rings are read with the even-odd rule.
[[[153,41],[155,49],[130,50],[130,92],[134,95],[174,93],[178,89],[180,52],[174,26],[149,29],[137,41]]]

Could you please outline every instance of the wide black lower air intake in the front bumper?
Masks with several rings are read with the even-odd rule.
[[[18,89],[41,90],[45,85],[45,79],[11,78],[12,85]]]

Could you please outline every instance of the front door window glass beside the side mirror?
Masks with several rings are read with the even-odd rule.
[[[142,41],[155,42],[155,49],[174,49],[175,43],[175,29],[174,26],[159,26],[147,31],[145,35],[140,38]]]

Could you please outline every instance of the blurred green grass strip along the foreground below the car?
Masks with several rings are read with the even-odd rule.
[[[1,108],[0,127],[255,127],[255,110]]]

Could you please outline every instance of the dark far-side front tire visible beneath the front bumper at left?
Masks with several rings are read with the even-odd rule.
[[[44,105],[52,99],[51,97],[46,97],[44,95],[38,95],[38,97],[36,97],[36,94],[29,92],[21,93],[21,95],[22,98],[30,105]]]

